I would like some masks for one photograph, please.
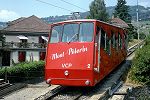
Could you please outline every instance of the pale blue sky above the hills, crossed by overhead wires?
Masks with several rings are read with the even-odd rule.
[[[43,3],[43,2],[46,3]],[[69,2],[73,5],[65,3]],[[29,17],[35,15],[39,18],[49,16],[69,15],[72,12],[89,11],[89,5],[93,0],[1,0],[0,1],[0,21],[7,22],[19,17]],[[104,0],[106,7],[115,6],[117,0]],[[150,7],[150,0],[138,0],[139,5]],[[127,5],[136,5],[137,0],[126,0]],[[54,7],[57,6],[57,7]],[[60,7],[60,8],[58,8]],[[82,8],[82,9],[81,9]],[[64,10],[65,9],[65,10]]]

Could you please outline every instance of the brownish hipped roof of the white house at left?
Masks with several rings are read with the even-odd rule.
[[[8,26],[4,28],[9,32],[49,32],[49,26],[40,18],[32,15],[28,18],[19,18],[8,23]]]

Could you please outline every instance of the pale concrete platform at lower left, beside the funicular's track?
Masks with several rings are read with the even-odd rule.
[[[3,100],[34,100],[41,95],[45,95],[56,87],[57,85],[49,86],[45,82],[29,84],[26,88],[17,90],[3,97]]]

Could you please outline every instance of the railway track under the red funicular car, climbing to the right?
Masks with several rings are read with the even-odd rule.
[[[135,44],[128,49],[128,56],[131,56],[135,49],[144,45],[144,41]],[[132,57],[128,57],[126,62],[123,62],[115,69],[110,75],[105,77],[95,87],[63,87],[55,86],[48,89],[42,95],[39,95],[34,100],[107,100],[117,89],[122,86],[123,72],[125,73],[130,66],[130,60]],[[52,87],[52,86],[50,86]]]

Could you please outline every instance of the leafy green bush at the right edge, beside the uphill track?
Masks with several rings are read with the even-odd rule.
[[[150,84],[150,45],[137,50],[132,63],[129,78],[138,83]]]

